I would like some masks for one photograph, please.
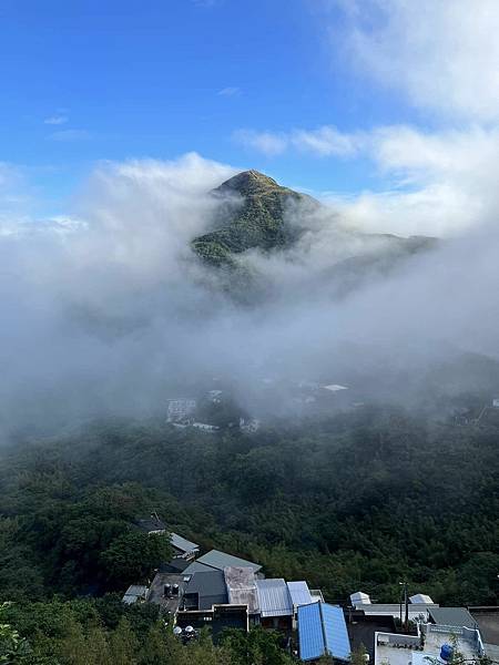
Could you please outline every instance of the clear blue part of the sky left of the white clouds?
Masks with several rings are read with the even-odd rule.
[[[363,160],[268,156],[234,133],[417,117],[342,59],[344,16],[320,2],[7,0],[0,18],[0,161],[54,212],[96,161],[190,151],[312,190],[376,187]]]

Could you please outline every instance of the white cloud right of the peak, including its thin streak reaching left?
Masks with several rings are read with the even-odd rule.
[[[385,191],[330,196],[352,223],[368,231],[452,234],[489,222],[499,208],[496,129],[425,132],[393,125],[340,133],[323,126],[236,137],[271,156],[297,150],[317,157],[368,160],[384,178]]]

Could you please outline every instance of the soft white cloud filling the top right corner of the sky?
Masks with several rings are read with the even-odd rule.
[[[332,42],[363,73],[417,106],[499,119],[497,0],[350,0],[345,16],[346,34],[333,28]]]

